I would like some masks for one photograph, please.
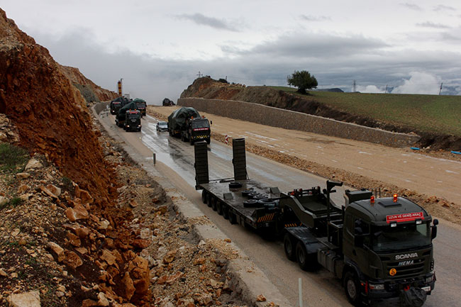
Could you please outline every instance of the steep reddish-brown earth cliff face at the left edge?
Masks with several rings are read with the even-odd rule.
[[[46,48],[0,11],[0,113],[17,126],[20,144],[43,153],[91,194],[108,196],[111,172],[102,162],[84,97]]]

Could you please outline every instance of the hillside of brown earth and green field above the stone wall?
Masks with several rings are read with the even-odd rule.
[[[421,136],[420,147],[461,150],[461,97],[404,94],[360,94],[334,91],[296,93],[286,86],[226,84],[196,79],[185,97],[248,101]]]

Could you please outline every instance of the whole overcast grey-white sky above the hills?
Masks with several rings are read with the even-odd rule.
[[[62,65],[148,104],[197,77],[319,88],[461,94],[461,2],[0,0]]]

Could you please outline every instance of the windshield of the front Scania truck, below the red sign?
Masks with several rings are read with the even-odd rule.
[[[430,244],[429,223],[372,228],[372,249],[375,252],[425,247]]]

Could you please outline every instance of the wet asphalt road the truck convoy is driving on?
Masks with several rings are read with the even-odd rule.
[[[103,115],[104,116],[104,115]],[[168,177],[190,201],[196,203],[204,215],[218,225],[223,233],[235,242],[253,259],[255,265],[275,284],[294,306],[298,305],[298,278],[303,279],[304,306],[350,306],[340,281],[325,269],[318,272],[304,272],[296,262],[290,262],[284,255],[282,242],[265,240],[238,225],[230,225],[208,206],[201,202],[199,191],[195,191],[194,148],[177,138],[171,138],[167,132],[157,132],[155,118],[143,118],[140,133],[126,133],[113,123],[113,116],[101,118],[111,128],[119,131],[121,138],[134,148],[139,149],[148,163],[152,163],[152,152],[157,159],[157,170]],[[233,177],[230,146],[211,141],[209,145],[210,179]],[[311,186],[324,187],[326,179],[297,169],[286,167],[247,152],[247,170],[252,179],[264,182],[267,186],[278,186],[281,191]],[[343,203],[343,191],[338,188],[332,195],[335,203]],[[435,291],[424,306],[461,306],[461,227],[441,221],[435,246],[435,273],[437,282]]]

